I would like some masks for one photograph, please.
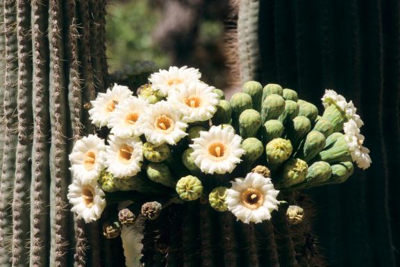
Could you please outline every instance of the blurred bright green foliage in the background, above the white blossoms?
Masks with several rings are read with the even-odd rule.
[[[106,24],[107,56],[110,72],[126,64],[151,60],[165,67],[169,59],[152,42],[152,32],[160,19],[160,10],[148,0],[115,1],[108,5]]]

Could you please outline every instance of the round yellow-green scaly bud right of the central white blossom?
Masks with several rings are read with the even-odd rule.
[[[267,143],[265,151],[267,152],[267,163],[279,164],[289,159],[293,147],[290,140],[275,138],[271,142]]]

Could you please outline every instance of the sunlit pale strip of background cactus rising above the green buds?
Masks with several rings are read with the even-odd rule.
[[[240,64],[240,80],[244,83],[259,78],[258,13],[260,11],[260,1],[244,0],[240,1],[239,5],[238,62]]]

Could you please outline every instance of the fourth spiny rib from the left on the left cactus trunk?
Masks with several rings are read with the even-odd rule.
[[[67,265],[67,248],[65,241],[68,238],[67,210],[67,183],[68,183],[68,156],[67,156],[67,110],[65,103],[65,72],[64,47],[62,40],[63,13],[62,3],[58,0],[49,1],[49,50],[50,50],[50,236],[51,265]]]

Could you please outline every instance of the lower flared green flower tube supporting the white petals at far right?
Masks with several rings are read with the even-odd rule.
[[[326,138],[325,149],[319,152],[319,160],[328,163],[351,161],[351,152],[342,133],[332,133]]]

